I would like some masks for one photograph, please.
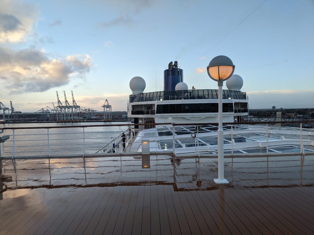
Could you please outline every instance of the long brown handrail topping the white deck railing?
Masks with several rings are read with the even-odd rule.
[[[281,121],[281,122],[242,122],[242,123],[223,123],[227,125],[250,125],[250,124],[277,124],[277,123],[314,123],[311,121]],[[149,125],[174,125],[174,126],[188,126],[188,125],[218,125],[218,123],[129,123],[129,124],[101,124],[101,125],[81,125],[81,126],[51,126],[51,127],[3,127],[3,130],[17,130],[17,129],[52,129],[52,128],[77,128],[77,127],[122,127],[122,126],[149,126]]]

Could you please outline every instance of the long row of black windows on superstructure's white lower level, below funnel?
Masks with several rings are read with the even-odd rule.
[[[157,104],[156,114],[218,112],[218,103]],[[222,112],[233,112],[232,103],[223,103]]]

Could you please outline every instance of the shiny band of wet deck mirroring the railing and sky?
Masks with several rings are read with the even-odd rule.
[[[225,177],[230,184],[225,187],[311,185],[314,180],[311,164],[314,157],[307,155],[306,158],[305,156],[227,158]],[[219,188],[213,181],[218,174],[218,162],[214,158],[178,159],[167,155],[142,155],[2,159],[0,163],[0,173],[5,171],[13,180],[1,181],[2,191],[23,188],[112,187],[130,185],[132,182],[132,185],[172,185],[174,191],[219,189],[220,198],[224,200],[224,187]],[[8,189],[4,189],[6,187]]]

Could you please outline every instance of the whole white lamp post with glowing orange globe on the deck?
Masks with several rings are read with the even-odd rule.
[[[222,129],[222,86],[223,82],[231,77],[235,65],[225,55],[218,55],[207,66],[208,76],[218,81],[218,179],[216,184],[227,184],[224,176],[224,130]]]

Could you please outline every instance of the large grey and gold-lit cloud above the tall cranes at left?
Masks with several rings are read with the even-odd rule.
[[[2,86],[10,94],[47,91],[66,85],[74,78],[84,78],[92,66],[89,55],[68,55],[51,59],[34,48],[9,50],[0,47]]]

